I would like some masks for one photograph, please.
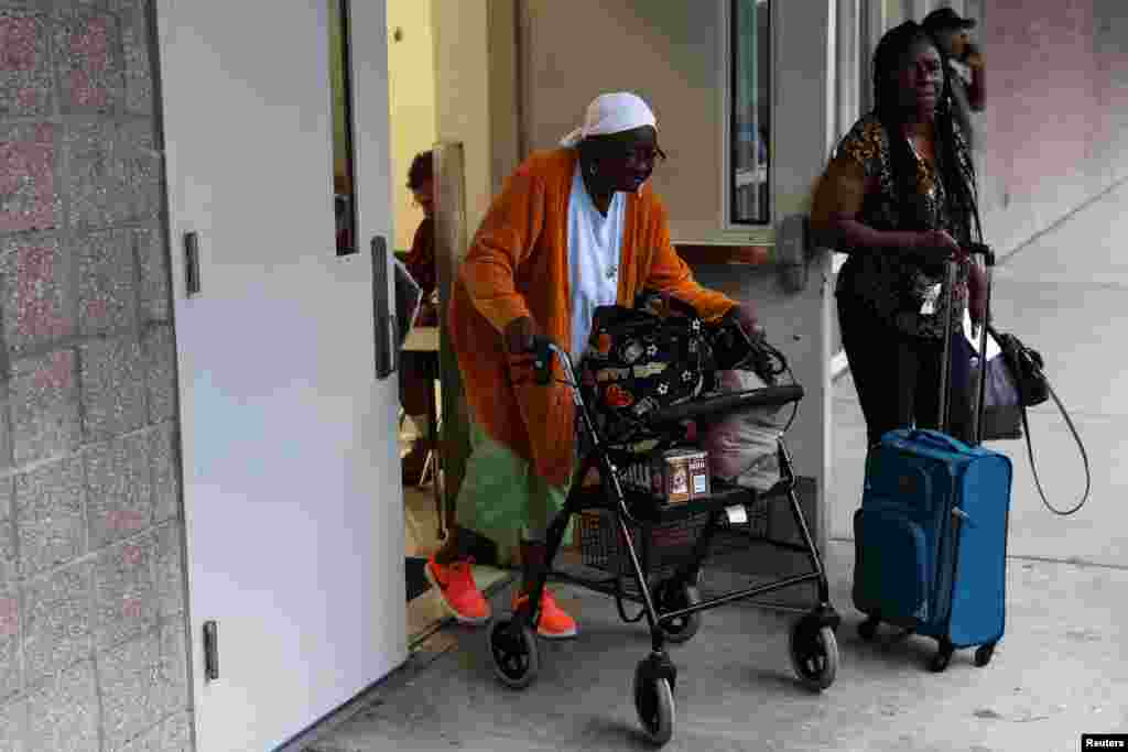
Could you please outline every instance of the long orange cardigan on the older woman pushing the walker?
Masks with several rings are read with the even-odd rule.
[[[574,149],[538,152],[506,180],[459,268],[448,316],[474,419],[554,486],[572,471],[571,393],[559,383],[511,383],[529,374],[511,370],[501,333],[530,316],[565,350],[572,340],[567,216],[578,158]],[[666,209],[650,182],[627,197],[618,303],[633,306],[643,287],[671,293],[707,321],[735,304],[694,280],[670,244]]]

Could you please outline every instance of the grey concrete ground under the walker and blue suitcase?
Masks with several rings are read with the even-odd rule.
[[[787,614],[743,604],[705,613],[678,666],[672,751],[905,750],[1073,752],[1082,733],[1128,732],[1128,572],[1015,558],[1007,631],[990,665],[960,651],[942,674],[935,643],[883,631],[862,643],[849,602],[853,550],[831,545],[828,569],[844,616],[835,684],[811,695],[787,662]],[[384,750],[641,750],[631,699],[649,651],[614,601],[561,589],[581,636],[540,643],[539,680],[525,691],[493,676],[484,630],[437,635],[359,711],[307,752]],[[508,591],[493,599],[508,611]],[[887,629],[887,628],[883,628]]]

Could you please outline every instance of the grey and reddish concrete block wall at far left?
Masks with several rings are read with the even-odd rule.
[[[151,29],[0,1],[0,752],[191,749]]]

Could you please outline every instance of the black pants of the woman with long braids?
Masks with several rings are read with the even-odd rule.
[[[847,295],[838,297],[838,325],[865,416],[867,445],[873,446],[895,428],[938,427],[943,342],[906,335],[880,319],[865,303]],[[955,331],[953,339],[962,336]],[[968,441],[971,437],[967,388],[970,369],[966,356],[969,351],[953,350],[957,356],[949,390],[948,433]]]

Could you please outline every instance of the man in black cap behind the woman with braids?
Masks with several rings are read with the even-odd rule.
[[[963,131],[968,145],[976,150],[980,145],[980,134],[971,113],[984,110],[984,57],[969,36],[976,20],[961,18],[951,8],[937,8],[925,16],[922,26],[948,56],[952,116]]]

